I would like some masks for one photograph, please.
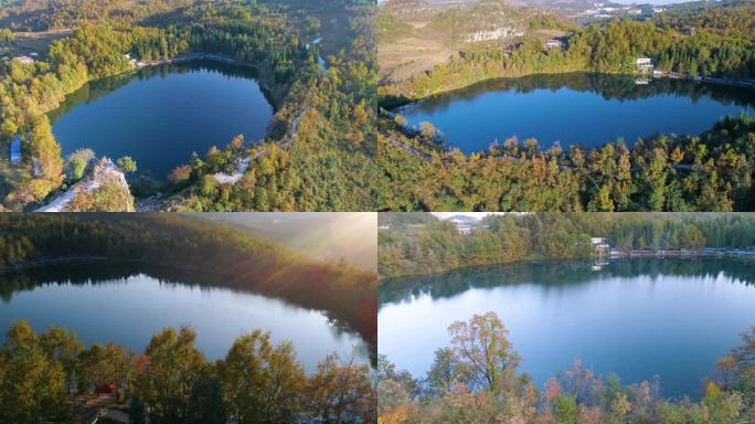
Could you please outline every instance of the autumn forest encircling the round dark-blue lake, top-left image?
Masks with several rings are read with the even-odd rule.
[[[86,82],[131,72],[127,54],[149,64],[201,52],[256,68],[276,107],[265,142],[249,147],[228,140],[224,150],[212,148],[188,158],[168,182],[140,181],[137,194],[163,193],[166,204],[159,209],[173,210],[373,209],[375,109],[370,105],[376,84],[371,6],[357,0],[331,3],[322,8],[330,11],[322,18],[352,31],[345,40],[328,44],[338,51],[327,57],[325,72],[318,64],[318,46],[309,45],[321,22],[317,14],[301,22],[296,2],[176,1],[153,8],[63,2],[50,10],[24,11],[22,4],[6,12],[15,21],[44,22],[21,23],[22,28],[76,28],[71,36],[53,41],[41,60],[7,60],[0,70],[0,129],[6,139],[21,137],[24,157],[20,176],[0,177],[6,208],[28,209],[81,178],[82,172],[70,169],[76,166],[75,158],[61,157],[45,115],[65,96]],[[237,184],[221,184],[210,177],[233,171],[236,159],[260,151]]]

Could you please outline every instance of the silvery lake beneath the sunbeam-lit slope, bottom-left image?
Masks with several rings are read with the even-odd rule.
[[[17,319],[35,331],[63,326],[87,344],[115,341],[138,353],[161,329],[185,324],[210,359],[224,358],[238,336],[259,328],[276,342],[290,340],[308,372],[331,352],[370,360],[368,343],[320,311],[138,263],[77,262],[0,274],[2,332]]]

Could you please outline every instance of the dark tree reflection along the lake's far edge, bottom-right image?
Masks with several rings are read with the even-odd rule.
[[[623,258],[604,264],[595,261],[519,262],[469,267],[438,275],[391,278],[379,289],[379,305],[411,301],[429,295],[433,300],[451,298],[472,288],[539,284],[559,289],[610,277],[715,277],[755,285],[753,261],[740,258]]]

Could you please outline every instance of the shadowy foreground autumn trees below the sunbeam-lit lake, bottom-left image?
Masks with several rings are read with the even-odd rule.
[[[0,349],[0,423],[91,422],[95,391],[111,391],[129,423],[376,422],[370,367],[332,353],[307,375],[290,342],[254,330],[209,361],[188,327],[155,335],[141,354],[123,344],[86,348],[73,330],[39,335],[25,321]],[[86,421],[85,421],[86,420]]]

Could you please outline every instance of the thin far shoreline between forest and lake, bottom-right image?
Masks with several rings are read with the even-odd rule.
[[[738,248],[719,248],[719,247],[702,247],[700,250],[693,251],[693,250],[658,250],[658,251],[646,251],[646,250],[616,250],[610,252],[609,254],[605,255],[594,255],[594,256],[583,256],[583,257],[565,257],[565,258],[547,258],[547,257],[541,257],[541,256],[535,256],[531,255],[529,257],[522,257],[520,259],[513,259],[513,261],[508,261],[508,262],[497,262],[492,264],[480,264],[480,265],[465,265],[465,266],[458,266],[454,268],[447,268],[438,272],[429,272],[429,273],[408,273],[408,274],[401,274],[401,275],[395,275],[395,276],[385,276],[381,275],[380,273],[378,274],[378,284],[380,285],[381,283],[389,282],[392,279],[397,279],[397,278],[406,278],[406,277],[429,277],[429,276],[438,276],[447,273],[451,273],[455,271],[461,271],[461,269],[472,269],[472,268],[481,268],[481,267],[489,267],[489,266],[503,266],[503,265],[513,265],[518,263],[536,263],[536,262],[552,262],[552,261],[582,261],[582,262],[587,262],[587,261],[610,261],[610,259],[631,259],[631,258],[657,258],[657,259],[663,259],[663,258],[689,258],[689,259],[694,259],[694,258],[700,258],[700,257],[715,257],[715,258],[752,258],[755,259],[755,251],[743,251]]]

